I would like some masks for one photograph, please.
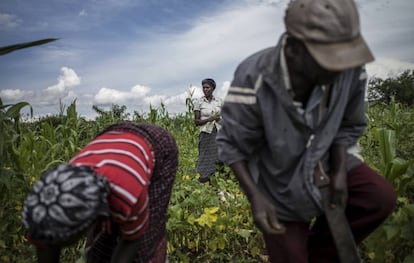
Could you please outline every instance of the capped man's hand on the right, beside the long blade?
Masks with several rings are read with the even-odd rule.
[[[330,176],[331,208],[338,206],[345,208],[348,199],[348,185],[346,171],[340,170]]]

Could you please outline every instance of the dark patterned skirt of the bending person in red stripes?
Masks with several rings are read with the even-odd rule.
[[[149,226],[144,234],[135,240],[137,256],[134,262],[165,263],[167,208],[178,166],[178,148],[175,140],[164,129],[144,123],[114,124],[102,131],[98,137],[108,132],[132,133],[144,138],[152,146],[155,161],[151,169],[151,183],[147,186]],[[145,160],[145,157],[141,159]],[[109,263],[120,240],[118,224],[111,225],[111,232],[99,235],[100,228],[96,228],[96,231],[92,237],[95,242],[86,254],[87,262]]]

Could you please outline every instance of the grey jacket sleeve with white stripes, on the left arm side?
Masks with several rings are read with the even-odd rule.
[[[239,66],[224,99],[222,128],[216,140],[219,159],[226,164],[247,160],[263,140],[255,89],[257,79],[249,76],[243,65]]]

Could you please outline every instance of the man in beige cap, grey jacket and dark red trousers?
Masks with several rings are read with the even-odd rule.
[[[271,262],[338,262],[314,183],[318,164],[356,243],[395,206],[391,185],[358,154],[364,64],[374,58],[352,0],[291,1],[285,26],[276,47],[237,68],[222,108],[219,158],[244,190]]]

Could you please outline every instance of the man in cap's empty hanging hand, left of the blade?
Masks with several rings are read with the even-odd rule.
[[[261,193],[256,193],[250,200],[253,220],[257,227],[266,234],[283,234],[286,228],[279,223],[276,208]]]

